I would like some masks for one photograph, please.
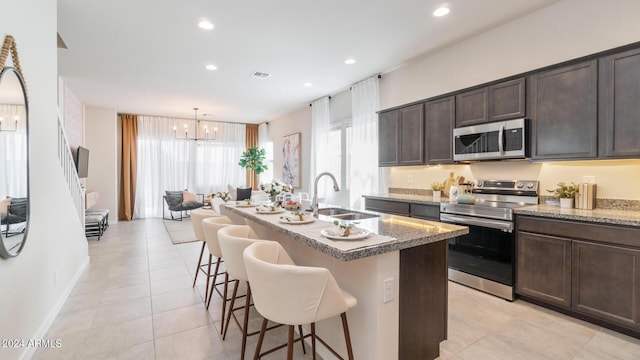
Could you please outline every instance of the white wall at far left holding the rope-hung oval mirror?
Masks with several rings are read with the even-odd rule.
[[[15,37],[26,78],[31,151],[27,242],[17,258],[0,259],[0,339],[44,338],[88,260],[56,155],[56,10],[55,1],[13,0],[3,2],[0,12],[0,34]],[[0,358],[17,359],[34,350],[0,348]]]

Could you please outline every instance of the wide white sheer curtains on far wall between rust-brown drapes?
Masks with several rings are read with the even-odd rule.
[[[165,190],[208,193],[241,182],[244,172],[237,162],[245,147],[245,125],[216,123],[216,142],[176,139],[176,128],[182,133],[185,122],[193,120],[138,116],[134,218],[162,216]]]

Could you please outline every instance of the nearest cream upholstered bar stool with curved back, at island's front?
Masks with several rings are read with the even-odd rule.
[[[274,241],[248,246],[243,257],[247,276],[251,282],[254,305],[264,317],[254,359],[285,346],[287,346],[287,359],[293,359],[293,327],[302,324],[311,324],[311,334],[303,336],[300,333],[299,340],[311,336],[314,359],[316,339],[336,357],[342,359],[324,340],[316,336],[315,331],[316,322],[340,315],[347,356],[353,360],[346,312],[356,306],[358,301],[338,286],[329,270],[294,265],[284,248]],[[286,345],[261,354],[264,330],[268,320],[288,325],[289,338]]]

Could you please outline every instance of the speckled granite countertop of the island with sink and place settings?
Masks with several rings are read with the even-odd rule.
[[[322,229],[335,227],[332,224],[335,219],[328,216],[320,215],[311,224],[294,225],[280,223],[278,220],[283,214],[258,214],[255,208],[233,205],[224,205],[224,209],[342,261],[407,249],[469,233],[469,228],[464,226],[360,211],[378,215],[357,221],[357,227],[370,231],[371,235],[364,240],[331,240],[320,235]]]

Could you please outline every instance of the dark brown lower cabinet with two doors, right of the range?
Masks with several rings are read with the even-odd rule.
[[[640,338],[640,229],[516,218],[516,293]]]

